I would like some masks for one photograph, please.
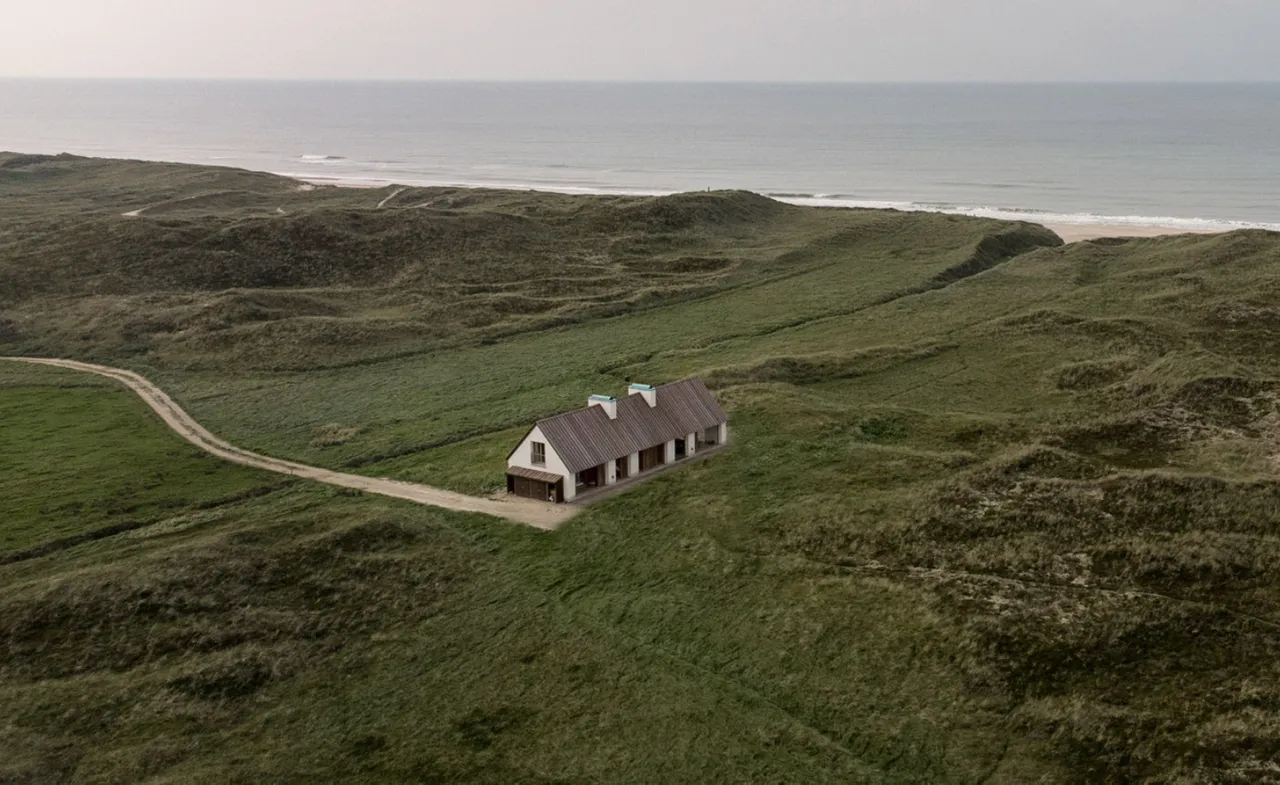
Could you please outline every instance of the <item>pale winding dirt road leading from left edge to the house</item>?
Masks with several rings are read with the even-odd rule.
[[[265,469],[266,471],[306,478],[308,480],[316,480],[317,483],[339,485],[342,488],[355,488],[366,493],[408,499],[420,505],[444,507],[445,510],[481,512],[484,515],[504,517],[509,521],[526,524],[538,529],[554,529],[573,517],[577,512],[575,507],[566,505],[548,505],[530,499],[486,499],[465,496],[462,493],[453,493],[452,490],[443,490],[440,488],[431,488],[430,485],[417,485],[413,483],[402,483],[399,480],[389,480],[384,478],[361,476],[358,474],[343,474],[340,471],[332,471],[317,466],[307,466],[306,464],[294,464],[293,461],[271,458],[247,449],[241,449],[239,447],[229,444],[209,433],[200,423],[193,420],[191,415],[183,411],[182,407],[174,403],[173,398],[166,396],[163,389],[133,371],[109,368],[106,365],[93,365],[91,362],[77,362],[74,360],[46,360],[37,357],[0,357],[0,360],[33,362],[36,365],[52,365],[56,368],[68,368],[72,370],[115,379],[120,384],[124,384],[133,392],[138,393],[138,397],[141,397],[147,406],[154,409],[155,412],[160,415],[160,419],[163,419],[169,428],[174,429],[178,435],[187,439],[196,447],[200,447],[205,452],[236,464],[243,464],[244,466],[253,466],[255,469]]]

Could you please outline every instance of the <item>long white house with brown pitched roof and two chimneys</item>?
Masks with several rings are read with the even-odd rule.
[[[728,417],[700,379],[627,392],[539,420],[507,456],[507,492],[571,502],[728,442]]]

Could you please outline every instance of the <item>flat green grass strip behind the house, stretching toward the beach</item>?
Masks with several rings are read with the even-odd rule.
[[[790,275],[692,302],[358,370],[233,376],[161,371],[160,378],[196,416],[218,423],[233,439],[308,461],[358,467],[424,446],[526,425],[536,416],[580,405],[591,389],[617,392],[630,378],[646,378],[628,366],[659,350],[681,352],[754,339],[942,286],[937,277],[983,259],[977,246],[984,232],[1015,232],[1025,243],[1039,237],[1024,237],[1016,227],[947,216],[854,214],[844,220],[856,231],[824,241],[817,250],[804,248],[803,261]],[[371,389],[388,394],[371,406]],[[285,401],[288,406],[276,405]],[[326,425],[358,433],[342,446],[323,447],[323,439],[315,442]]]

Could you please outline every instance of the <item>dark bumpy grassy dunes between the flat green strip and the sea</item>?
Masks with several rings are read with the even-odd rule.
[[[114,165],[113,181],[104,161],[0,161],[0,198],[23,207],[0,216],[0,341],[219,373],[314,370],[635,314],[829,266],[851,250],[928,264],[929,247],[986,259],[1052,241],[1029,227],[805,210],[749,193],[426,188],[378,210],[397,191]],[[157,179],[169,183],[165,204],[201,209],[67,214],[110,197],[133,205],[147,197],[118,193],[157,191]],[[211,190],[220,201],[205,200]],[[253,207],[264,202],[287,206]],[[997,232],[1009,239],[973,247]]]

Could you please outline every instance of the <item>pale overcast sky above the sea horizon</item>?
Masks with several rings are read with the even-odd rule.
[[[1280,0],[3,0],[0,76],[1280,81]]]

